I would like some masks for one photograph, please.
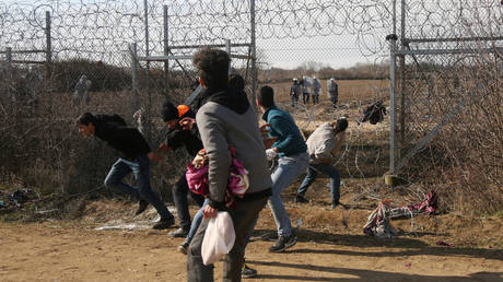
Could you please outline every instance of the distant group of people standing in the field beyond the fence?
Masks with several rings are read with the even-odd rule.
[[[313,89],[313,92],[311,92],[309,89]],[[312,82],[309,81],[308,77],[303,77],[301,81],[294,78],[292,80],[292,84],[290,85],[290,98],[292,102],[292,107],[295,107],[299,104],[299,98],[301,95],[304,105],[307,105],[307,103],[309,103],[309,96],[313,97],[313,105],[318,104],[320,91],[321,83],[319,82],[318,78],[313,77]],[[327,81],[327,96],[332,103],[332,106],[336,108],[339,96],[339,87],[334,78]]]

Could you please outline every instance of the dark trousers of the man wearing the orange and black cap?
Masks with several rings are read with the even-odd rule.
[[[180,176],[173,187],[173,200],[175,201],[176,212],[178,213],[179,224],[183,230],[188,231],[190,228],[190,212],[188,209],[187,195],[190,193],[192,199],[199,207],[202,205],[204,197],[201,195],[195,195],[190,191],[187,178],[184,175]]]

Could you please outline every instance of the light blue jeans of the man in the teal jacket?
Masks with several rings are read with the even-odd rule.
[[[307,153],[282,156],[271,175],[272,196],[269,198],[269,207],[278,226],[278,236],[289,237],[292,234],[292,223],[281,200],[281,191],[305,172],[308,162],[309,155]]]

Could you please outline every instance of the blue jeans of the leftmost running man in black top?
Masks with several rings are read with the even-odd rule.
[[[138,188],[122,181],[122,178],[131,172],[134,174]],[[117,160],[105,178],[105,186],[117,188],[139,200],[147,200],[157,210],[162,220],[173,218],[164,202],[152,191],[150,186],[150,160],[147,155],[141,155],[134,161]]]

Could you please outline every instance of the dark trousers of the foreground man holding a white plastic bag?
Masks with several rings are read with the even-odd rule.
[[[241,281],[241,270],[244,263],[244,254],[246,239],[250,226],[256,222],[258,213],[266,205],[267,198],[247,201],[236,201],[236,209],[230,210],[236,239],[231,251],[225,255],[223,261],[224,282]],[[212,282],[213,265],[204,266],[202,263],[201,246],[204,232],[208,227],[209,219],[203,219],[197,230],[192,242],[187,251],[187,281],[189,282]]]

